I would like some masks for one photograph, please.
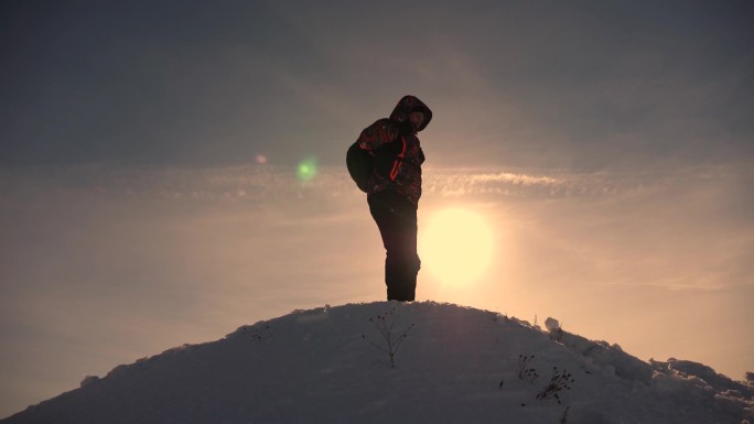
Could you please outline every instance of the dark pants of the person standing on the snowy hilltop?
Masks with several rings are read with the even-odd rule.
[[[417,254],[417,207],[405,196],[390,191],[369,196],[369,211],[375,218],[385,258],[385,284],[388,301],[413,301],[421,261]]]

